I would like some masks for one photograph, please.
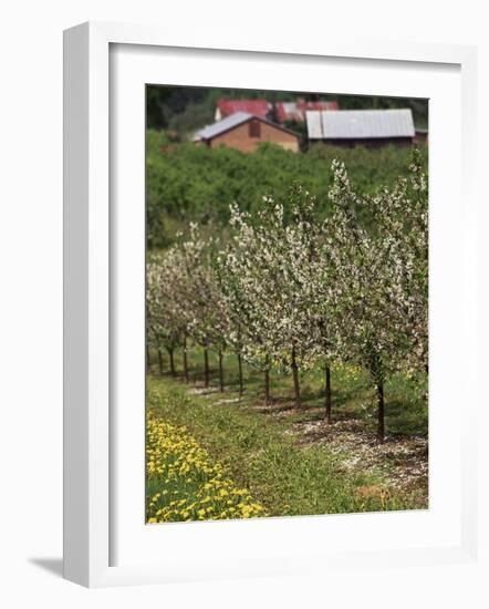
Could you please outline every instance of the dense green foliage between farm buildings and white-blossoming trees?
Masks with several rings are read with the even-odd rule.
[[[427,147],[422,148],[427,165]],[[327,192],[331,163],[343,161],[355,187],[373,194],[407,176],[410,148],[393,146],[367,151],[316,144],[296,154],[272,144],[256,153],[232,148],[210,149],[193,143],[171,145],[165,133],[147,134],[147,224],[148,247],[169,246],[175,234],[197,221],[219,230],[229,220],[229,207],[237,203],[245,211],[256,211],[263,195],[283,203],[285,217],[291,187],[300,183],[318,199],[318,214],[331,210]]]

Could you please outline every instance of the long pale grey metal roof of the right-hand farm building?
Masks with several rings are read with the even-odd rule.
[[[311,110],[305,113],[308,138],[353,147],[413,144],[415,127],[409,109],[402,110]]]

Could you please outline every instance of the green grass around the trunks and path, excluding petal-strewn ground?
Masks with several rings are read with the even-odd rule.
[[[274,376],[272,407],[263,404],[262,375],[246,368],[246,392],[238,401],[235,359],[226,358],[226,392],[201,394],[201,353],[190,354],[191,384],[181,379],[148,375],[148,406],[173,425],[185,425],[233,481],[249,489],[271,516],[335,514],[426,507],[419,493],[402,493],[385,484],[381,471],[346,471],[351,454],[327,445],[298,442],[288,433],[294,424],[322,416],[322,373],[302,378],[304,411],[293,410],[290,376]],[[177,360],[178,361],[178,360]],[[212,385],[218,386],[212,355]],[[365,374],[335,368],[333,413],[336,420],[362,419],[375,434],[374,393]],[[427,412],[409,379],[397,375],[387,384],[387,431],[396,434],[427,433]],[[416,385],[417,386],[417,385]],[[400,404],[404,404],[400,407]],[[154,486],[154,485],[152,485]],[[363,493],[363,489],[374,489]],[[153,488],[154,491],[154,488]],[[377,492],[378,491],[378,492]]]

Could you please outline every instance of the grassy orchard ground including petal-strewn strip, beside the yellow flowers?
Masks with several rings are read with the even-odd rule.
[[[205,458],[222,468],[226,484],[242,488],[248,503],[262,507],[262,513],[251,512],[249,517],[427,507],[426,379],[398,374],[386,384],[387,437],[378,445],[373,389],[367,375],[352,367],[332,370],[333,424],[327,425],[321,371],[302,375],[305,407],[298,411],[290,375],[272,375],[272,401],[266,405],[262,375],[248,367],[239,398],[233,355],[225,358],[225,392],[219,391],[215,357],[207,389],[198,350],[189,353],[188,385],[178,371],[177,376],[169,373],[166,361],[160,375],[154,354],[152,359],[147,400],[152,416],[175,430],[185,429]],[[148,504],[158,489],[171,488],[166,496],[159,494],[158,506],[168,508],[171,500],[178,510],[181,502],[180,516],[174,510],[171,519],[195,519],[186,506],[197,506],[206,482],[205,475],[184,473],[165,487],[162,476],[148,475]],[[201,516],[230,517],[232,512],[212,507]]]

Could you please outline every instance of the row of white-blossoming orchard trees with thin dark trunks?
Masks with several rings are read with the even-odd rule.
[[[263,197],[256,214],[231,206],[226,244],[190,235],[147,267],[148,342],[174,351],[187,344],[238,358],[264,375],[270,401],[272,368],[290,371],[301,407],[300,370],[324,369],[325,419],[332,420],[331,365],[362,364],[377,393],[377,437],[384,440],[384,384],[395,371],[427,371],[427,179],[418,153],[408,177],[376,195],[360,195],[345,166],[332,164],[331,214],[319,219],[316,199],[292,188],[288,209]],[[374,223],[361,220],[364,210]]]

